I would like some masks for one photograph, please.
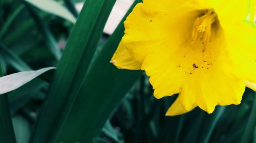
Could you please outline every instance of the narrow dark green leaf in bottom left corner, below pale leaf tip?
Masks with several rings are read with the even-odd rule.
[[[2,66],[0,76],[3,76]],[[16,143],[7,95],[0,95],[0,127],[0,143]]]

